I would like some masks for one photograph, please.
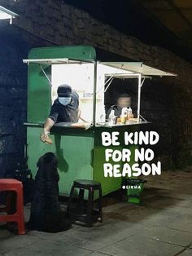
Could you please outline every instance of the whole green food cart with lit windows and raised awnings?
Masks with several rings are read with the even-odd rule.
[[[143,82],[151,76],[175,74],[151,68],[142,62],[103,61],[98,58],[92,46],[34,48],[24,63],[28,64],[28,121],[25,123],[28,167],[33,175],[37,171],[38,158],[46,152],[55,152],[59,159],[61,195],[69,195],[75,179],[97,180],[102,183],[103,195],[119,189],[121,177],[104,177],[103,163],[106,160],[101,135],[103,131],[110,134],[119,131],[120,145],[116,149],[129,148],[133,151],[137,145],[125,145],[123,135],[125,131],[140,130],[140,126],[148,123],[140,114]],[[104,96],[115,77],[137,78],[137,118],[124,125],[108,125],[106,122]],[[43,124],[57,97],[58,86],[64,83],[76,90],[79,95],[81,120],[91,126],[85,130],[74,128],[70,123],[56,123],[50,133],[53,144],[42,143],[39,137]],[[129,165],[132,164],[133,159],[130,159]]]

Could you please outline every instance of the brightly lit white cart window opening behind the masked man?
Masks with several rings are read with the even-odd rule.
[[[79,95],[81,118],[85,121],[93,120],[94,99],[94,64],[53,64],[52,65],[52,104],[57,98],[58,86],[68,84]],[[82,119],[79,121],[81,122]]]

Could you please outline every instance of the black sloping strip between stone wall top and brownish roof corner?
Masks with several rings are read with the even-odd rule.
[[[130,37],[137,38],[150,45],[162,46],[180,55],[185,60],[192,61],[192,51],[152,15],[146,13],[134,0],[116,1],[97,0],[65,0],[84,11],[89,12],[97,20],[110,24]],[[153,2],[153,1],[151,1]]]

